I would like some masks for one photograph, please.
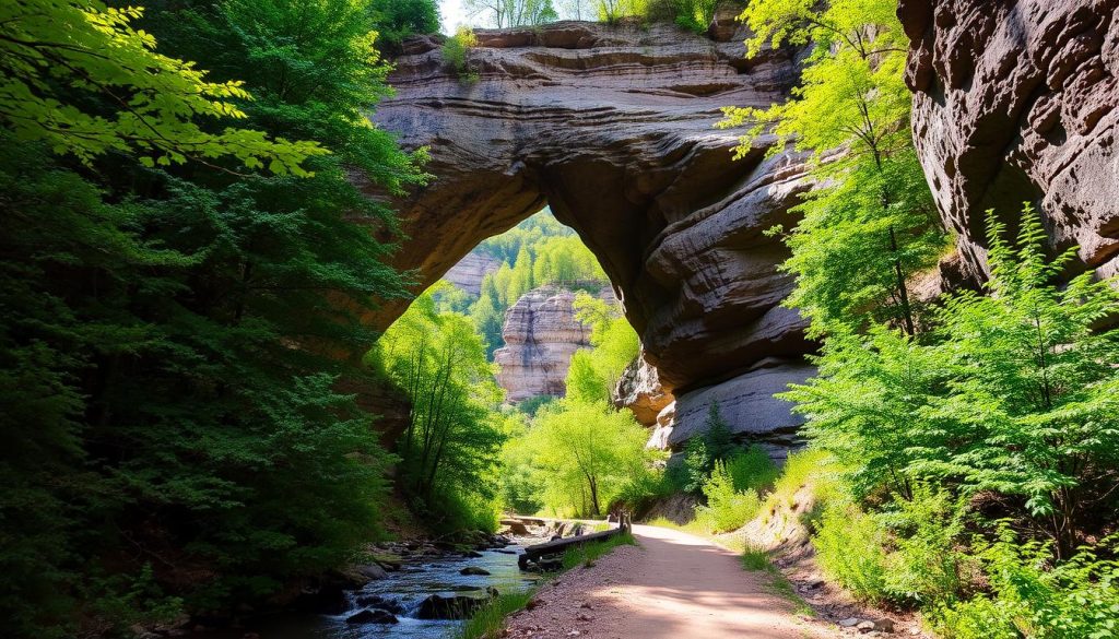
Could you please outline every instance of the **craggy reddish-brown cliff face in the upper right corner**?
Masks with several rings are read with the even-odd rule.
[[[984,212],[1042,212],[1080,269],[1119,272],[1119,0],[902,0],[913,134],[972,279]],[[1013,225],[1012,225],[1013,228]]]

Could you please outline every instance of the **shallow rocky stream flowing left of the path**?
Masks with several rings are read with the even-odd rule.
[[[499,551],[482,551],[481,557],[422,557],[406,560],[401,570],[388,573],[383,580],[367,584],[351,593],[352,609],[338,615],[284,613],[257,619],[244,629],[226,629],[192,636],[191,639],[242,639],[255,632],[260,639],[444,639],[453,637],[463,621],[427,620],[414,617],[420,603],[432,594],[485,595],[487,588],[498,592],[526,592],[539,575],[517,567],[520,546]],[[459,571],[478,566],[489,575],[462,575]],[[398,623],[350,624],[346,618],[364,607],[356,601],[361,596],[379,595],[395,601],[404,609],[397,614]],[[250,635],[251,636],[251,635]]]

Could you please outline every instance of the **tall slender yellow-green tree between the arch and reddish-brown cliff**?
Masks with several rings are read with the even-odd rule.
[[[946,237],[910,134],[910,94],[902,75],[908,38],[892,0],[755,0],[742,13],[763,46],[811,44],[801,85],[784,104],[728,107],[724,128],[746,125],[737,158],[760,135],[811,153],[821,185],[793,212],[787,236],[797,276],[787,300],[810,320],[810,335],[862,330],[893,321],[920,328],[908,280],[931,266]],[[782,232],[775,227],[774,233]]]

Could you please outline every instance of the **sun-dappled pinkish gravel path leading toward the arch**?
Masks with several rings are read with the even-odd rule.
[[[840,635],[797,615],[771,577],[739,556],[679,530],[634,526],[640,547],[620,546],[593,567],[543,586],[508,637],[591,639],[817,639]]]

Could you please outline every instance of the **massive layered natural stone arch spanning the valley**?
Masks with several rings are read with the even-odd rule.
[[[473,83],[445,67],[438,39],[413,40],[375,119],[405,145],[429,147],[435,176],[398,203],[408,239],[395,265],[425,286],[549,204],[599,257],[647,360],[676,391],[677,442],[711,400],[740,430],[791,432],[772,393],[810,372],[803,323],[779,306],[787,250],[763,235],[791,222],[803,166],[765,159],[767,140],[733,162],[735,134],[713,128],[722,106],[784,100],[794,51],[747,62],[734,29],[724,19],[711,37],[586,22],[480,31]]]

